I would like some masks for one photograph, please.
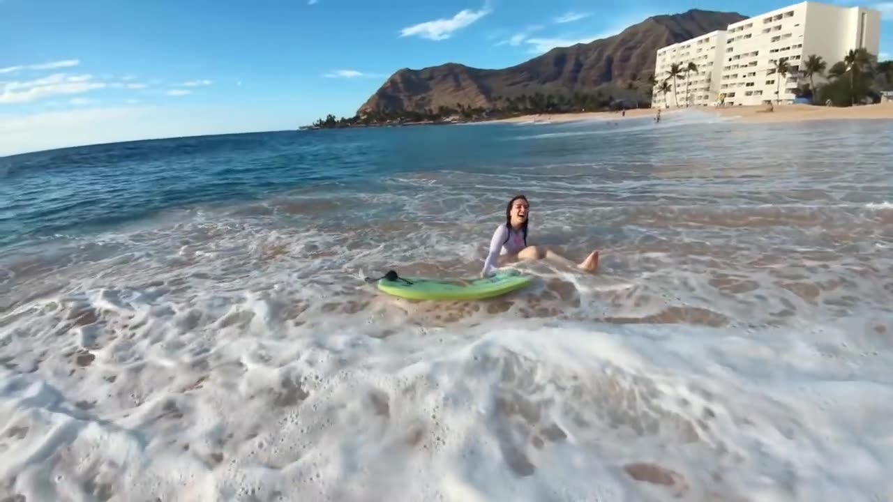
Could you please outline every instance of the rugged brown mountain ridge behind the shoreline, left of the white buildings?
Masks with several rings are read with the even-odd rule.
[[[570,96],[606,92],[619,99],[650,102],[650,86],[642,83],[654,72],[658,48],[726,29],[744,19],[747,17],[739,13],[689,9],[651,16],[612,37],[555,47],[506,68],[483,69],[455,62],[418,70],[401,68],[360,106],[357,115],[425,112],[460,105],[487,108],[534,93]]]

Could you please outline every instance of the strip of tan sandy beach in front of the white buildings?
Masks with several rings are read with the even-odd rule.
[[[748,123],[790,122],[790,121],[823,121],[823,120],[893,120],[893,103],[881,103],[878,105],[863,105],[847,108],[815,105],[776,105],[772,112],[768,107],[760,106],[730,106],[726,108],[713,106],[699,106],[692,108],[663,109],[661,114],[678,113],[683,110],[697,110],[704,113],[715,113],[722,117],[729,117]],[[509,123],[562,123],[568,121],[585,120],[622,120],[643,116],[654,116],[656,109],[639,108],[627,110],[624,117],[620,112],[587,112],[587,113],[540,113],[535,115],[523,115],[511,119],[503,119],[497,122]]]

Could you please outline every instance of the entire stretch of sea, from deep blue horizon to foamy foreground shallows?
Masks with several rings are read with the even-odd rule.
[[[0,500],[893,500],[893,123],[0,158]],[[597,274],[472,276],[516,193]]]

